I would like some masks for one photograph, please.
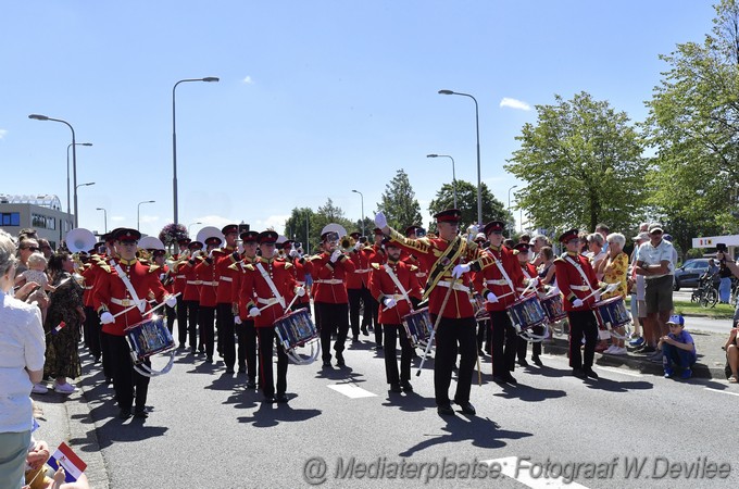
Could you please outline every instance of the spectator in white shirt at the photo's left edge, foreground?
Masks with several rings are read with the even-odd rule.
[[[15,243],[0,230],[0,487],[23,482],[30,444],[30,389],[43,374],[41,312],[11,297],[15,283]]]

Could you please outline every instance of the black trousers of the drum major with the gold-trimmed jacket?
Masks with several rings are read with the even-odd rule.
[[[436,316],[431,315],[431,321]],[[449,385],[452,381],[452,367],[460,353],[460,367],[456,379],[454,402],[469,401],[472,374],[477,360],[475,318],[453,319],[442,317],[436,331],[436,364],[434,365],[434,392],[437,405],[449,404]]]

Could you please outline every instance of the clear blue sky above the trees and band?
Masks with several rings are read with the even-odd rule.
[[[702,41],[709,1],[23,1],[0,17],[0,193],[55,193],[66,208],[71,133],[79,225],[173,221],[172,87],[179,222],[283,231],[295,206],[331,198],[371,216],[404,168],[427,214],[456,177],[508,204],[503,170],[535,104],[588,91],[632,121],[678,42]],[[510,99],[513,102],[502,103]],[[530,108],[526,110],[526,108]],[[514,191],[515,192],[515,191]],[[515,204],[515,198],[513,198]],[[515,213],[518,216],[518,212]]]

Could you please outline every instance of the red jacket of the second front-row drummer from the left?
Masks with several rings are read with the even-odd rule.
[[[267,280],[258,268],[258,264],[262,265],[264,272],[272,278],[285,305],[278,302]],[[254,327],[272,327],[275,319],[285,315],[286,308],[295,297],[297,287],[296,279],[289,272],[291,267],[291,263],[275,259],[266,260],[262,256],[259,256],[253,263],[245,265],[245,273],[241,277],[241,294],[246,298],[253,298],[247,302],[246,311],[249,312],[251,308],[264,308],[261,314],[254,317]]]

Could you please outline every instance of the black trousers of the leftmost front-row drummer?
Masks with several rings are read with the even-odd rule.
[[[134,400],[136,400],[136,410],[142,411],[149,393],[149,377],[134,369],[130,349],[125,337],[109,335],[108,333],[103,333],[102,336],[110,352],[113,388],[118,406],[129,410],[134,405]],[[143,363],[151,366],[149,360]]]

